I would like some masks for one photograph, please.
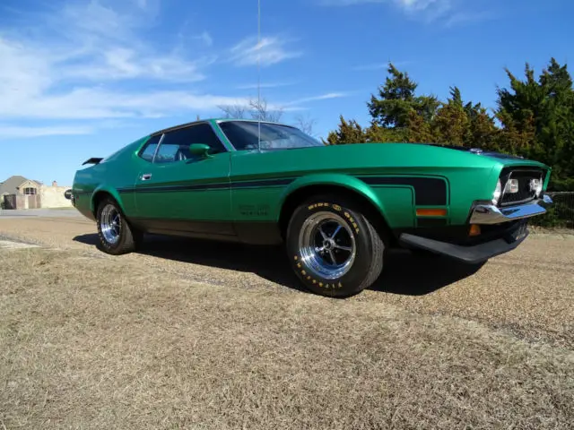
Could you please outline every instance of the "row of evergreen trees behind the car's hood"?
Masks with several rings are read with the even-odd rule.
[[[387,72],[367,103],[370,125],[363,129],[341,116],[326,144],[439,142],[497,150],[544,162],[552,167],[550,189],[574,190],[574,90],[566,65],[552,58],[537,80],[529,64],[523,80],[506,69],[509,88],[497,89],[493,116],[481,103],[465,103],[456,86],[440,102],[416,95],[417,83],[393,64]]]

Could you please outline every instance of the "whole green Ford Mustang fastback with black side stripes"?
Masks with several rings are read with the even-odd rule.
[[[178,125],[78,170],[71,198],[109,254],[144,233],[286,248],[310,290],[348,297],[403,247],[479,263],[514,249],[545,212],[551,169],[420,143],[325,146],[289,125]]]

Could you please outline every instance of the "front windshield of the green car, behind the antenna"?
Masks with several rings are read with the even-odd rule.
[[[257,121],[222,121],[219,126],[236,150],[257,150]],[[262,150],[289,150],[323,143],[289,125],[261,123]]]

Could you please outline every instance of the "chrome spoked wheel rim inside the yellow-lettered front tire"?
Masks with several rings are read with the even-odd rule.
[[[351,228],[333,212],[317,212],[303,223],[299,235],[301,260],[326,280],[341,278],[352,268],[357,248]]]

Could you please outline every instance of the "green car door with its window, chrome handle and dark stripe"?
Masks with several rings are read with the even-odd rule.
[[[190,145],[209,147],[192,154]],[[140,224],[151,232],[232,236],[230,152],[208,123],[171,130],[135,183]]]

